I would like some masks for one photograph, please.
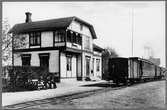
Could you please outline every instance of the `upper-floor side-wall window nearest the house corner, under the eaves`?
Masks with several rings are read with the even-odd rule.
[[[55,31],[54,32],[54,42],[64,42],[64,41],[65,41],[65,32]]]

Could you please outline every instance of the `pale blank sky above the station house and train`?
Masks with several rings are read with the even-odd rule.
[[[99,46],[121,57],[160,58],[165,66],[164,1],[3,2],[2,12],[11,27],[25,22],[25,12],[32,21],[77,16],[94,26]]]

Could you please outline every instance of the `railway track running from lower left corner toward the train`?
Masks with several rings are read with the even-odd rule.
[[[130,87],[136,86],[136,85],[139,85],[139,84],[142,84],[142,83],[136,83],[136,84],[131,85]],[[89,86],[91,86],[91,85],[89,85]],[[48,98],[48,99],[43,99],[43,100],[35,100],[35,101],[29,101],[29,102],[9,105],[9,106],[3,107],[3,109],[28,109],[28,108],[31,108],[33,106],[48,104],[48,103],[53,103],[53,104],[56,105],[56,104],[61,104],[61,103],[64,103],[66,101],[72,100],[72,99],[88,97],[88,96],[93,95],[95,93],[98,94],[98,93],[103,93],[103,92],[107,92],[107,91],[111,91],[111,90],[123,89],[123,88],[126,88],[126,87],[128,87],[128,86],[124,86],[124,85],[115,86],[113,84],[111,84],[111,87],[109,87],[109,84],[108,84],[108,87],[100,88],[100,89],[97,89],[97,90],[90,90],[90,91],[86,91],[86,92],[84,91],[84,92],[79,92],[79,93],[72,93],[72,94],[68,94],[68,95],[64,95],[64,96],[58,96],[58,97],[54,97],[54,98]]]

